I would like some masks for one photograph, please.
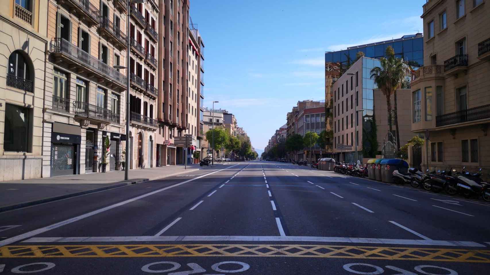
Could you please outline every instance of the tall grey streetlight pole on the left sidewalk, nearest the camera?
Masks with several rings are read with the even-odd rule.
[[[129,119],[131,118],[131,114],[129,111],[130,102],[129,102],[129,47],[131,44],[129,43],[129,13],[130,13],[130,5],[131,4],[141,4],[144,3],[145,0],[128,0],[127,1],[127,12],[126,12],[126,66],[114,65],[116,69],[126,69],[126,159],[124,163],[124,180],[128,180],[129,178]]]

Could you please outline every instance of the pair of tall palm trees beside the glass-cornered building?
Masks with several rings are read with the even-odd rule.
[[[386,49],[386,56],[388,59],[382,57],[380,59],[381,67],[374,67],[371,69],[371,78],[374,78],[374,82],[379,89],[386,96],[386,103],[388,106],[388,121],[390,126],[390,132],[392,132],[392,94],[394,96],[394,123],[396,127],[396,140],[397,148],[400,148],[400,134],[398,130],[398,106],[396,102],[396,89],[400,87],[401,82],[405,79],[407,73],[407,64],[401,58],[395,58],[394,50],[392,46],[388,46]]]

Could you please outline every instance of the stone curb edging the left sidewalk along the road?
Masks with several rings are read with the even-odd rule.
[[[187,172],[194,172],[194,171],[198,171],[198,170],[199,169],[192,168],[192,169],[185,169],[182,172],[165,175],[163,177],[133,179],[133,180],[128,180],[128,181],[118,181],[118,182],[115,182],[114,185],[111,185],[111,186],[105,186],[105,187],[101,187],[101,188],[85,190],[85,191],[81,191],[81,192],[76,192],[76,193],[71,193],[71,194],[66,194],[66,195],[61,195],[61,196],[56,196],[56,197],[50,197],[50,198],[45,198],[45,199],[40,199],[40,200],[28,201],[28,202],[23,202],[23,203],[19,203],[19,204],[2,206],[2,207],[0,207],[0,212],[20,209],[20,208],[38,205],[38,204],[47,203],[47,202],[53,202],[53,201],[71,198],[71,197],[76,197],[76,196],[80,196],[80,195],[86,195],[86,194],[95,193],[98,191],[110,190],[110,189],[119,188],[119,187],[123,187],[123,186],[127,186],[127,185],[144,183],[147,181],[152,181],[152,180],[157,180],[157,179],[163,179],[163,178],[167,178],[167,177],[172,177],[174,175],[183,174],[183,173],[187,173]]]

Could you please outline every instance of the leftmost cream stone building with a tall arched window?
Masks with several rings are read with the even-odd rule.
[[[43,166],[43,98],[47,6],[5,0],[0,10],[0,181],[39,178]],[[49,159],[48,159],[49,161]]]

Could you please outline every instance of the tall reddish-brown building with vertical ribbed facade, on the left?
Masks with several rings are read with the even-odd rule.
[[[158,0],[157,165],[182,163],[175,136],[188,129],[189,0]],[[161,84],[161,85],[160,85]]]

